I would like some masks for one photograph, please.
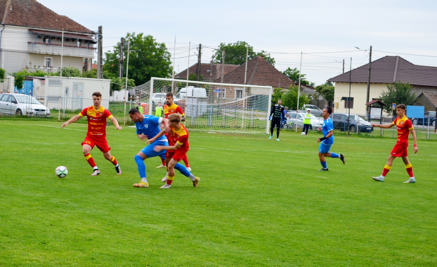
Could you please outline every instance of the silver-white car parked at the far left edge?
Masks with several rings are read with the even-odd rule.
[[[0,94],[0,113],[50,116],[50,109],[26,94]]]

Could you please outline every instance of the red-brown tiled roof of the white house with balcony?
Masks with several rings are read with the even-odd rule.
[[[92,33],[69,17],[56,14],[35,0],[0,0],[0,19],[7,25]]]

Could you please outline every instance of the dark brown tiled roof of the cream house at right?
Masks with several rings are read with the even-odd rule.
[[[367,83],[368,66],[366,64],[350,73],[353,83]],[[399,56],[385,56],[371,65],[371,83],[393,83],[401,81],[420,86],[437,86],[437,67],[419,66]],[[349,72],[333,77],[328,82],[349,82]]]

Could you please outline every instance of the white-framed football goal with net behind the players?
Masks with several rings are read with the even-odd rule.
[[[152,77],[133,87],[135,104],[144,114],[155,114],[167,92],[185,113],[184,126],[220,132],[267,132],[272,87],[208,83]]]

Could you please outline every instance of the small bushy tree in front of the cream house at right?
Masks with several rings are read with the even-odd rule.
[[[387,104],[384,110],[387,113],[396,115],[396,110],[392,111],[392,103],[413,105],[416,100],[416,94],[413,93],[413,86],[409,83],[402,83],[398,81],[397,83],[391,83],[387,85],[387,91],[381,93],[381,101]]]

